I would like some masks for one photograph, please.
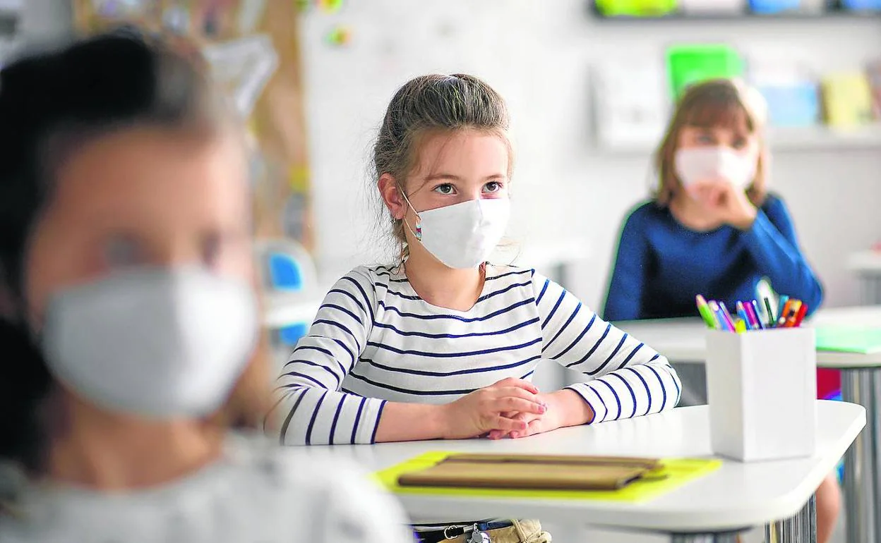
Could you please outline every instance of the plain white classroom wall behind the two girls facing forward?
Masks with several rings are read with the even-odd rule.
[[[659,57],[673,41],[727,40],[823,71],[859,68],[881,56],[881,22],[602,22],[585,0],[373,0],[304,19],[307,110],[319,253],[331,268],[374,258],[366,210],[366,160],[396,87],[427,72],[466,71],[506,96],[518,144],[512,234],[528,246],[585,236],[593,265],[574,285],[603,299],[620,221],[648,193],[648,157],[592,150],[591,64]],[[352,43],[324,33],[349,26]],[[881,149],[787,151],[774,157],[774,190],[788,201],[828,305],[857,302],[842,260],[881,238]],[[372,191],[372,187],[369,187]],[[372,194],[372,192],[371,192]],[[589,249],[588,249],[589,246]]]

